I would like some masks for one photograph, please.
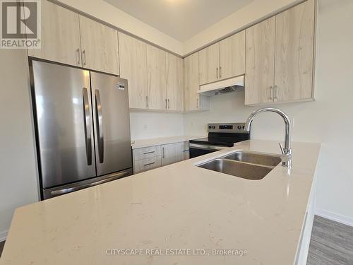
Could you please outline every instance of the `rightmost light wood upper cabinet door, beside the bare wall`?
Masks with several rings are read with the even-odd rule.
[[[312,98],[315,1],[276,16],[275,101]]]

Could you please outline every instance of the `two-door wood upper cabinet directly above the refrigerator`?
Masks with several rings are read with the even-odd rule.
[[[119,75],[116,30],[47,0],[41,3],[42,48],[28,49],[29,56]]]

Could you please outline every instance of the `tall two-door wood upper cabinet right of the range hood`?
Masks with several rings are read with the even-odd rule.
[[[246,30],[245,104],[313,98],[315,0]]]

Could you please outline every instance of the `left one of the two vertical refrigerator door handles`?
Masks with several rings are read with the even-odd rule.
[[[92,165],[92,134],[91,134],[91,121],[90,121],[90,103],[88,100],[88,90],[83,88],[83,124],[85,125],[85,145],[87,164]]]

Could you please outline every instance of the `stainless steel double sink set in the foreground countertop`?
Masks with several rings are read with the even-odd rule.
[[[198,167],[244,179],[258,180],[268,175],[281,161],[280,155],[236,151]]]

